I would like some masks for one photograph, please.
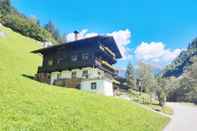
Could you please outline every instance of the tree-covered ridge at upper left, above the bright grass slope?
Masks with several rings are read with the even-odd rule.
[[[38,41],[57,43],[60,39],[39,24],[34,17],[26,17],[11,6],[10,0],[0,0],[0,22],[12,30]],[[59,42],[59,41],[58,41]]]

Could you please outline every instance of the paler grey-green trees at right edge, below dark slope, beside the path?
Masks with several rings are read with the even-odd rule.
[[[192,58],[192,64],[179,79],[169,79],[169,101],[193,102],[197,104],[197,57]]]

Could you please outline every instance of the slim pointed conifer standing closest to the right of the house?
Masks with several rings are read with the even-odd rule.
[[[127,85],[130,89],[136,89],[136,79],[135,79],[134,74],[135,74],[134,68],[133,68],[132,64],[129,62],[125,76],[126,76],[126,80],[127,80]]]

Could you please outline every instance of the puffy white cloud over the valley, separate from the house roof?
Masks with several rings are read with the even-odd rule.
[[[182,51],[182,49],[168,49],[162,42],[142,42],[135,50],[137,61],[143,61],[157,68],[169,64]]]

